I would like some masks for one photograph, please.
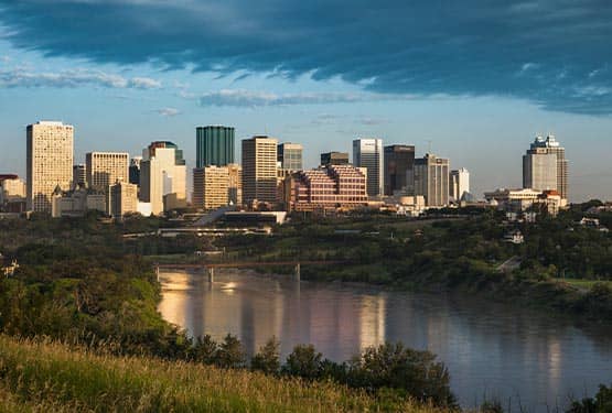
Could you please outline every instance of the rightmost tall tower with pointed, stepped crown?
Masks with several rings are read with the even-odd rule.
[[[554,135],[536,137],[523,155],[523,187],[537,191],[556,189],[568,198],[568,161],[566,149]]]

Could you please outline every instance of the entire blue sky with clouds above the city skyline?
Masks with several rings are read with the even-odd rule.
[[[25,175],[37,120],[75,126],[75,163],[171,140],[190,166],[195,127],[227,124],[309,167],[415,144],[482,196],[552,133],[570,200],[612,199],[610,21],[606,0],[0,0],[0,173]]]

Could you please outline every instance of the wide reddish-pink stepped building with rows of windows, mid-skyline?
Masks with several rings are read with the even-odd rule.
[[[366,176],[352,165],[299,171],[284,180],[287,210],[326,210],[367,205]]]

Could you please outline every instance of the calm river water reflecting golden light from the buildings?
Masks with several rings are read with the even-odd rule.
[[[612,383],[612,327],[546,311],[238,270],[217,271],[213,284],[181,271],[160,282],[165,319],[194,336],[235,334],[249,354],[271,336],[283,356],[310,343],[335,361],[385,340],[430,350],[464,407],[497,398],[512,411],[547,412]]]

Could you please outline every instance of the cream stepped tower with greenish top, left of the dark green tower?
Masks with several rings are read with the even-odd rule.
[[[186,166],[174,143],[152,142],[142,151],[140,199],[151,204],[153,215],[186,205]]]

